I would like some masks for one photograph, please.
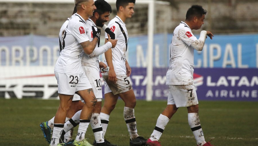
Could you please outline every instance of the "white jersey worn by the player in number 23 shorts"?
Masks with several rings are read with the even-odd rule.
[[[68,21],[62,38],[63,49],[60,52],[54,71],[64,74],[82,74],[83,48],[80,43],[89,40],[86,34],[86,21],[75,13]]]

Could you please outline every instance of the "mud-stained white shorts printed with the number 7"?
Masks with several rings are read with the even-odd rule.
[[[175,104],[176,107],[188,107],[198,104],[196,89],[192,85],[169,85],[167,104]]]

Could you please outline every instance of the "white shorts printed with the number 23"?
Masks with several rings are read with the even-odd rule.
[[[82,74],[54,73],[57,80],[58,93],[60,94],[74,95],[77,91],[92,88],[84,72]]]

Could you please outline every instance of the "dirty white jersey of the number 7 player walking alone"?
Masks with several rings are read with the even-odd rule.
[[[169,69],[166,85],[193,84],[193,50],[190,46],[198,40],[190,27],[181,22],[174,30],[170,47]]]

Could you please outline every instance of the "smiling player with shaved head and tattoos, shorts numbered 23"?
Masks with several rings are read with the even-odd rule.
[[[75,93],[85,101],[78,129],[78,133],[81,133],[79,135],[81,139],[77,141],[79,145],[87,142],[83,133],[89,126],[93,108],[97,103],[91,84],[81,66],[83,52],[91,54],[99,40],[100,30],[93,31],[92,42],[89,41],[85,30],[86,20],[93,15],[96,7],[93,0],[75,0],[75,6],[77,13],[71,17],[62,35],[62,50],[54,67],[60,105],[54,118],[51,146],[62,145],[59,143],[59,138]]]

